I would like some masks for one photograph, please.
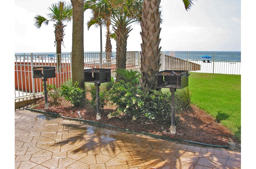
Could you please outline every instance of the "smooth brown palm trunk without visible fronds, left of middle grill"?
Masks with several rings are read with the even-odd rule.
[[[84,1],[72,0],[72,83],[84,89]]]

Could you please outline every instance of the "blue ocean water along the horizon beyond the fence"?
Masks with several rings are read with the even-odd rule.
[[[179,59],[189,60],[189,61],[201,61],[201,60],[209,60],[210,62],[241,62],[241,52],[240,51],[163,51],[165,55],[170,55]],[[93,55],[91,53],[100,53],[98,52],[84,52],[87,53],[85,58],[87,57],[96,57],[99,59],[99,55]],[[103,52],[105,53],[105,52]],[[26,58],[31,53],[15,53],[19,58]],[[36,58],[38,56],[43,57],[52,57],[56,55],[56,52],[40,52],[33,53],[33,57]],[[70,54],[70,52],[62,52],[62,54]],[[205,58],[206,56],[206,58]],[[138,55],[136,55],[138,57]],[[104,55],[103,55],[104,59]]]

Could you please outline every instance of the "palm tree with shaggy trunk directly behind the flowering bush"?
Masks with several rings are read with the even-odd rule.
[[[116,40],[116,69],[126,69],[127,39],[128,34],[132,30],[129,25],[133,22],[140,21],[142,3],[142,0],[124,0],[113,16],[113,30]],[[117,74],[116,80],[120,78]]]

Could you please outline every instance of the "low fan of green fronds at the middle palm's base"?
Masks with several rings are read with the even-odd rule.
[[[139,71],[126,70],[122,68],[117,68],[116,74],[118,74],[125,82],[134,84],[134,80],[140,76]],[[136,84],[136,81],[135,81]]]

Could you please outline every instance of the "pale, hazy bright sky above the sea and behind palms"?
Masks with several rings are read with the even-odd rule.
[[[70,0],[65,0],[70,3]],[[15,53],[56,52],[53,23],[34,26],[34,17],[47,18],[48,7],[58,0],[15,0],[14,45]],[[197,0],[189,11],[182,0],[162,0],[163,23],[160,25],[161,51],[241,51],[241,1]],[[87,29],[91,11],[84,13],[84,51],[100,51],[100,28]],[[72,51],[72,21],[65,22],[62,52]],[[127,51],[141,51],[139,24],[132,25]],[[103,51],[106,28],[103,27]],[[116,42],[112,51],[116,51]]]

